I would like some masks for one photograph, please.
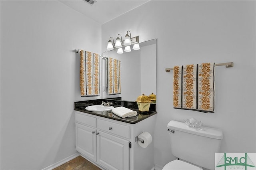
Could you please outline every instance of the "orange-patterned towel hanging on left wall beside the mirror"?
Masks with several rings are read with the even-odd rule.
[[[81,96],[100,95],[100,55],[89,51],[80,52]]]

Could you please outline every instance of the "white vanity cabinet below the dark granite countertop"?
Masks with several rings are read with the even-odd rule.
[[[76,114],[76,150],[103,170],[153,170],[154,140],[142,148],[135,137],[148,131],[154,139],[156,115],[138,123],[100,117],[80,111]]]

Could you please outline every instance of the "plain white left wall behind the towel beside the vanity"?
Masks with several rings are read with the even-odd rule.
[[[101,26],[59,1],[1,1],[1,169],[40,170],[75,154],[80,54]]]

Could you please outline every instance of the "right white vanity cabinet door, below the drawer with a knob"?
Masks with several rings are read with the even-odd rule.
[[[109,170],[130,169],[129,141],[98,130],[97,162]]]

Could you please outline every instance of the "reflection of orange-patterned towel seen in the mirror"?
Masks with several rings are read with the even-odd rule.
[[[121,93],[120,61],[108,57],[108,95]]]

